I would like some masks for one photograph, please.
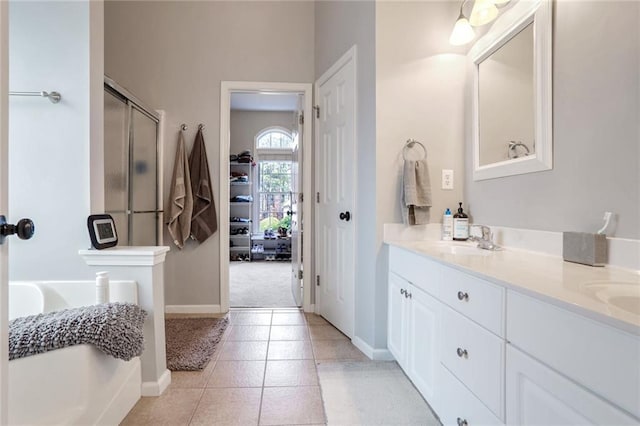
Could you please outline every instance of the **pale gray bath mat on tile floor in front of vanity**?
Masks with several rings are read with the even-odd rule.
[[[320,361],[317,367],[329,425],[440,425],[395,362]]]

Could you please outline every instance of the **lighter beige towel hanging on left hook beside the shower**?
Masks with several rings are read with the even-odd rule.
[[[191,233],[191,214],[193,211],[193,194],[191,193],[191,177],[187,162],[187,149],[184,146],[182,132],[178,138],[176,161],[173,164],[171,191],[169,193],[169,221],[167,227],[173,242],[179,249]]]

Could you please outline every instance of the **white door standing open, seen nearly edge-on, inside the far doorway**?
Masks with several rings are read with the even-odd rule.
[[[300,191],[302,188],[302,105],[303,95],[299,95],[298,111],[295,113],[296,125],[293,126],[293,152],[291,154],[291,293],[297,306],[302,306],[302,209]]]

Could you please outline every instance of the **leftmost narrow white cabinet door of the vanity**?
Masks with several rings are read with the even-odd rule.
[[[387,312],[387,347],[406,371],[407,301],[409,283],[394,273],[389,274],[389,305]]]

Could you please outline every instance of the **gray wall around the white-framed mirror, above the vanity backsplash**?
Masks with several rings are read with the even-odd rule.
[[[612,211],[609,235],[638,239],[640,3],[559,1],[554,14],[553,170],[479,182],[468,173],[469,213],[479,223],[594,232]],[[466,163],[470,171],[470,144]]]

